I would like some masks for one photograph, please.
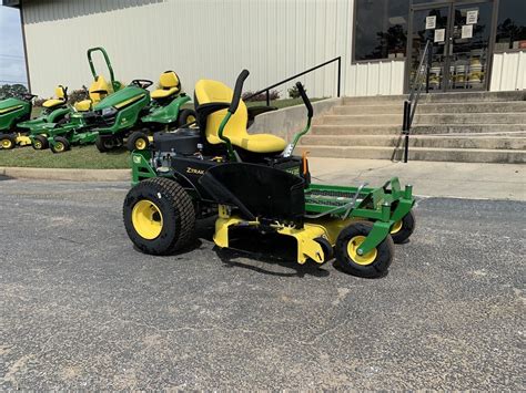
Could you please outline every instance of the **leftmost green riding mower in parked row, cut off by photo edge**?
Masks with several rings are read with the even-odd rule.
[[[59,85],[55,97],[44,101],[40,116],[31,118],[32,100],[36,95],[26,94],[22,99],[7,99],[0,102],[0,147],[4,149],[31,145],[30,135],[44,125],[62,124],[72,108],[68,105],[68,87]]]

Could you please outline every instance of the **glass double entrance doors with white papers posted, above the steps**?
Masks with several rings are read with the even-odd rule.
[[[431,92],[486,90],[493,8],[492,0],[415,6],[409,25],[409,86],[431,40]]]

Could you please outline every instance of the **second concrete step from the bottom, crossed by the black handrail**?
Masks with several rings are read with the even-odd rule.
[[[402,146],[403,136],[391,135],[307,135],[302,145],[311,146]],[[422,136],[412,135],[409,146],[435,148],[485,148],[526,151],[526,137],[507,136]]]

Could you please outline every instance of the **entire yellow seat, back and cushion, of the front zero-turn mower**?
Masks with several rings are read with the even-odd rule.
[[[204,128],[206,141],[212,145],[223,143],[218,135],[218,131],[226,115],[226,110],[212,112],[206,116],[200,116],[200,106],[212,103],[230,104],[234,92],[232,89],[218,81],[201,80],[195,84],[195,111],[198,112],[198,117],[200,117],[200,127]],[[240,100],[237,111],[230,117],[223,132],[223,135],[231,141],[232,145],[251,153],[276,154],[283,152],[286,142],[281,137],[272,134],[250,135],[246,132],[247,120],[249,111],[243,100]]]

